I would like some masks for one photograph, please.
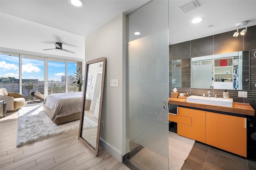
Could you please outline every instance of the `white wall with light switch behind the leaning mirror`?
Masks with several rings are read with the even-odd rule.
[[[85,61],[106,57],[106,75],[102,108],[100,146],[119,162],[125,154],[125,15],[120,14],[86,36]],[[110,79],[119,79],[119,87],[110,87]]]

